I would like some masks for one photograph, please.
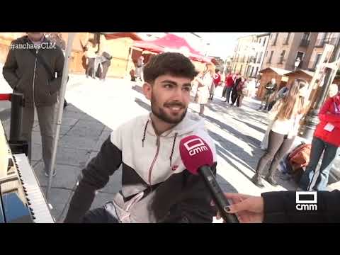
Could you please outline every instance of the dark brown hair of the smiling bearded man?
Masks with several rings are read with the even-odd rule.
[[[181,53],[165,52],[151,57],[144,67],[144,79],[153,84],[157,77],[172,75],[174,77],[185,77],[194,79],[198,72],[193,63]]]

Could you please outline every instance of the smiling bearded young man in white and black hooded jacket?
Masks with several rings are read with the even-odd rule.
[[[212,222],[215,210],[200,176],[186,171],[179,142],[198,135],[213,154],[215,145],[203,118],[188,113],[191,81],[197,72],[191,61],[166,52],[147,63],[143,92],[152,112],[121,125],[82,171],[64,222]],[[122,189],[103,208],[89,210],[95,191],[103,188],[122,165]]]

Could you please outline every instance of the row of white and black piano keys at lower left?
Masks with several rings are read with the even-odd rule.
[[[48,208],[45,196],[43,195],[37,178],[25,154],[13,154],[17,164],[18,174],[23,185],[28,206],[35,223],[54,223],[55,220]]]

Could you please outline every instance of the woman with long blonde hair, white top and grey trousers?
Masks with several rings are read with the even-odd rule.
[[[300,120],[305,113],[304,98],[307,81],[296,79],[288,91],[288,95],[280,99],[270,112],[272,119],[271,131],[268,137],[268,148],[256,167],[256,174],[251,181],[262,188],[261,174],[266,164],[271,161],[271,166],[266,180],[276,186],[274,179],[280,160],[293,145],[299,130]]]

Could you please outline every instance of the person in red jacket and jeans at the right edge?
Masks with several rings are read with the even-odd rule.
[[[320,113],[320,123],[314,132],[312,149],[310,152],[310,163],[302,174],[299,186],[304,190],[325,191],[328,184],[329,171],[334,159],[339,154],[340,147],[340,92],[324,102]],[[324,153],[319,175],[315,176],[315,169],[319,159]],[[313,179],[317,178],[311,186]]]

